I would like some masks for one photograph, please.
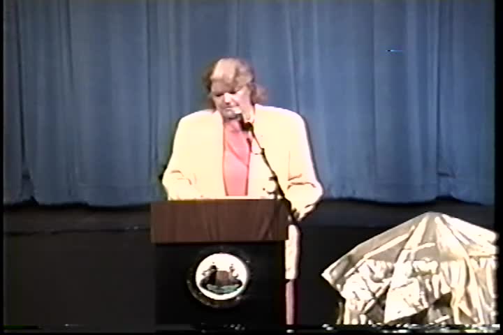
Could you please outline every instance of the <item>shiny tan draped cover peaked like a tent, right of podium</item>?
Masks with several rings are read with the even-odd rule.
[[[434,212],[372,237],[321,274],[344,298],[337,323],[494,324],[496,239]]]

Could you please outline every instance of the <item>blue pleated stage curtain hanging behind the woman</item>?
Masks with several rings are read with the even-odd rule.
[[[145,204],[201,74],[245,57],[325,198],[494,201],[490,0],[6,0],[3,203]]]

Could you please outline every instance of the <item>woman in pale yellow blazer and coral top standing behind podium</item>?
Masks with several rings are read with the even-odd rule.
[[[168,200],[284,198],[292,221],[321,199],[305,121],[264,105],[265,90],[243,59],[224,58],[203,75],[208,107],[182,117],[162,184]],[[294,223],[294,222],[292,222]],[[286,240],[286,322],[293,323],[293,280],[298,276],[299,230]]]

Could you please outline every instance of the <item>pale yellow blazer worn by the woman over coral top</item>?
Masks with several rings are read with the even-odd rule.
[[[248,195],[246,198],[272,198],[274,181],[260,154],[263,147],[271,168],[291,202],[304,218],[319,202],[323,188],[316,178],[305,122],[296,112],[279,107],[255,105],[254,131],[258,140],[251,144]],[[162,184],[168,200],[228,198],[224,188],[224,129],[221,114],[201,110],[180,119],[173,150]],[[286,241],[287,277],[296,277],[298,230],[289,229]],[[289,256],[289,254],[291,254]],[[288,273],[288,268],[294,268]]]

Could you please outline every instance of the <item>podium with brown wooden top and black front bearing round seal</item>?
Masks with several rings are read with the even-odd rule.
[[[284,241],[277,200],[151,204],[156,325],[285,325]]]

